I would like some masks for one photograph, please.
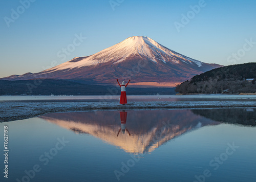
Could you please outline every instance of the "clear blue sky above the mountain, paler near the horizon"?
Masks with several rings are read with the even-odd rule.
[[[256,62],[254,0],[30,1],[0,2],[0,77],[37,73],[130,36],[207,63]],[[76,36],[86,38],[74,46]]]

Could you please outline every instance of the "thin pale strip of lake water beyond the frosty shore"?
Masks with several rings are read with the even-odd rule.
[[[18,102],[99,102],[99,101],[116,101],[118,102],[120,95],[103,95],[103,96],[0,96],[0,102],[18,101]],[[143,95],[133,96],[127,95],[129,101],[256,101],[256,95]]]

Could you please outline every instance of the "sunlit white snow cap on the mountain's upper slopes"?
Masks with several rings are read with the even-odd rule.
[[[155,40],[142,37],[142,36],[133,36],[126,38],[120,43],[113,45],[110,48],[104,49],[94,55],[88,56],[79,61],[74,59],[57,65],[47,71],[57,71],[57,70],[66,70],[66,69],[77,69],[83,66],[92,66],[100,63],[112,62],[113,64],[122,62],[130,56],[138,55],[140,57],[146,57],[152,60],[155,63],[162,61],[166,63],[173,62],[179,63],[183,61],[185,63],[196,63],[199,67],[202,65],[202,62],[188,58],[179,53],[176,53],[163,45],[157,43]]]

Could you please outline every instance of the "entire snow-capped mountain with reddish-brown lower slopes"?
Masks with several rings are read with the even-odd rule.
[[[12,75],[2,79],[47,78],[94,84],[115,84],[116,79],[131,79],[131,85],[175,86],[176,83],[220,66],[186,57],[151,38],[133,36],[91,56],[75,57],[39,73]]]

